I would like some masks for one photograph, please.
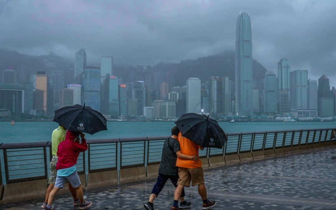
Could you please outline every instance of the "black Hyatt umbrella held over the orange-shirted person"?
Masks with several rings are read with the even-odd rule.
[[[182,136],[202,147],[223,148],[227,136],[218,122],[196,113],[183,114],[175,121]]]

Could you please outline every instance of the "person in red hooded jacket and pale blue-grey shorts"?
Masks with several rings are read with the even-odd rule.
[[[80,143],[79,135],[81,136],[82,143]],[[56,164],[57,176],[55,186],[49,194],[46,210],[53,210],[53,207],[51,206],[52,200],[59,189],[63,188],[66,180],[68,180],[76,190],[80,201],[79,209],[86,209],[92,205],[92,201],[84,201],[83,199],[82,185],[76,170],[79,153],[87,150],[84,136],[84,133],[68,130],[65,140],[58,145],[58,161]]]

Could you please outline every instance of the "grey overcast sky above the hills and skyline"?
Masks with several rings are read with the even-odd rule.
[[[253,58],[267,70],[277,73],[285,56],[291,70],[336,86],[334,0],[0,0],[0,48],[74,60],[85,46],[88,64],[101,55],[115,64],[179,62],[234,50],[241,10],[251,17]]]

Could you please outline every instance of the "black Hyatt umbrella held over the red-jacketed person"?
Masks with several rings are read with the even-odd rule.
[[[107,130],[106,118],[91,107],[85,107],[85,104],[84,106],[76,104],[56,110],[53,121],[71,131],[94,134]]]

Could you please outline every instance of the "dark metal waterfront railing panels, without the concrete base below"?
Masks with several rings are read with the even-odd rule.
[[[222,149],[205,148],[199,155],[200,158],[209,158],[336,141],[335,134],[336,128],[227,133],[228,141]],[[163,143],[168,137],[87,140],[88,150],[80,153],[77,171],[79,174],[87,174],[159,164]],[[0,150],[3,151],[0,183],[48,178],[52,157],[50,141],[0,143]],[[4,172],[4,179],[1,172]]]

